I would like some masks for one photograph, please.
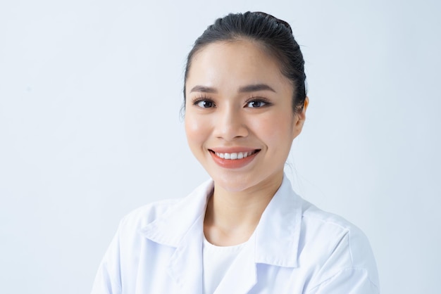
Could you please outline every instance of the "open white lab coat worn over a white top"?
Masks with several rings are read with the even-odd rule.
[[[140,207],[121,222],[92,294],[201,294],[207,181],[190,196]],[[366,236],[318,210],[284,177],[216,294],[371,294],[378,274]]]

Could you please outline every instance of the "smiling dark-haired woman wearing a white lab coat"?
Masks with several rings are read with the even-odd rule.
[[[230,14],[185,70],[185,131],[211,180],[120,222],[92,293],[379,293],[364,234],[283,173],[309,98],[290,26]]]

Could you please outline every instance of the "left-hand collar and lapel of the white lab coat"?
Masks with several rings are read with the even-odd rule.
[[[202,293],[204,216],[212,193],[213,181],[206,181],[142,229],[151,241],[176,248],[167,271],[179,293]]]

